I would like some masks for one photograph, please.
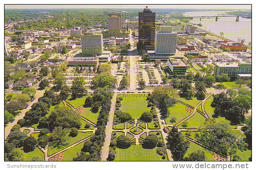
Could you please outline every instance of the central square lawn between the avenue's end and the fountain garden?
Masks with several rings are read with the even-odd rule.
[[[118,96],[123,97],[120,110],[129,113],[133,119],[139,119],[143,112],[150,111],[150,107],[147,107],[147,94],[120,94]]]

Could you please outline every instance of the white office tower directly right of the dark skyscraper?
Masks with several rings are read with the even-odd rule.
[[[177,33],[171,31],[171,26],[160,26],[160,31],[156,32],[156,54],[175,54]]]

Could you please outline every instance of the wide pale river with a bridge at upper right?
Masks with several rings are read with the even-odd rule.
[[[197,11],[186,12],[185,16],[216,16],[217,14],[223,14],[225,11]],[[251,19],[239,17],[239,21],[236,21],[237,17],[220,17],[218,21],[215,18],[193,18],[190,23],[202,24],[202,27],[198,28],[206,29],[211,33],[220,35],[220,32],[224,33],[224,38],[228,38],[233,41],[237,41],[238,38],[245,39],[245,44],[251,42]]]

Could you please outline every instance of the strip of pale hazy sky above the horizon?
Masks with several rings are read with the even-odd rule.
[[[52,2],[55,2],[55,1],[52,1]],[[112,2],[108,1],[108,2],[114,4],[114,1]],[[140,2],[143,3],[143,1],[140,1]],[[158,1],[158,3],[163,3],[163,4],[168,2],[170,3],[171,1]],[[190,1],[190,3],[191,2],[192,1]],[[79,3],[79,1],[77,3]],[[102,3],[104,3],[104,1],[102,1]],[[144,8],[145,6],[148,6],[149,8],[177,8],[177,9],[251,9],[251,5],[5,5],[5,9],[49,9],[49,8],[50,9],[76,9],[76,8],[85,8],[85,9],[86,8],[122,8],[122,9],[125,9],[125,8]]]

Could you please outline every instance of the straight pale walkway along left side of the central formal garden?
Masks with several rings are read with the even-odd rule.
[[[114,121],[116,98],[117,98],[117,94],[115,93],[113,96],[113,99],[111,99],[111,108],[109,111],[109,121],[106,125],[106,130],[105,130],[106,137],[105,137],[105,142],[102,147],[101,161],[107,161],[107,158],[109,156],[109,145],[110,145],[111,135],[112,135],[112,131],[113,131],[112,127],[113,127],[113,121]]]

